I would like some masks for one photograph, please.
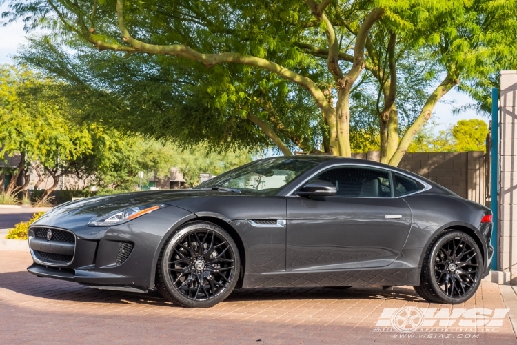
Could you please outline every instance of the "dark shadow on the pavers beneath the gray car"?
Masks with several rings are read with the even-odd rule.
[[[169,305],[157,292],[147,294],[97,290],[73,282],[39,278],[28,272],[0,273],[0,288],[32,297],[73,302]],[[288,299],[397,299],[423,302],[413,288],[396,287],[392,291],[381,287],[352,288],[245,288],[234,290],[226,302],[278,301]]]

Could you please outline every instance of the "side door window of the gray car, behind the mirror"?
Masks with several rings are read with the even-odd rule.
[[[359,166],[330,168],[319,179],[336,186],[338,197],[391,197],[389,173],[386,170]]]

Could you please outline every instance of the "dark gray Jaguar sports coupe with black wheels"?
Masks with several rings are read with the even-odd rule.
[[[358,159],[273,157],[189,190],[72,201],[29,229],[39,277],[214,306],[234,288],[412,285],[474,295],[491,211],[411,172]]]

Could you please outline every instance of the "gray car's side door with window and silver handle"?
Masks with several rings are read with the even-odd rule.
[[[411,228],[411,210],[393,197],[388,170],[327,168],[307,180],[329,181],[332,197],[287,196],[287,270],[347,270],[391,264]]]

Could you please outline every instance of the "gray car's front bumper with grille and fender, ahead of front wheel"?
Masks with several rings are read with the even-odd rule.
[[[28,272],[94,288],[146,292],[154,289],[156,262],[169,234],[195,217],[170,206],[119,226],[92,227],[86,225],[92,215],[56,213],[30,226],[34,264]],[[49,230],[52,235],[43,238]],[[73,237],[63,236],[68,233]]]

